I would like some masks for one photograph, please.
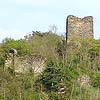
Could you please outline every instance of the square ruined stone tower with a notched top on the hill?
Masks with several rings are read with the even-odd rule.
[[[93,17],[69,15],[66,20],[66,39],[93,38]]]

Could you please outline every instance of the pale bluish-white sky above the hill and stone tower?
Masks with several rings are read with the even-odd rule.
[[[100,37],[100,0],[0,0],[0,42],[48,31],[53,24],[64,33],[68,15],[93,16],[95,38]]]

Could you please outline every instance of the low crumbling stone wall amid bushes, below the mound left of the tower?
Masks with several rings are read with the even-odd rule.
[[[33,69],[34,73],[41,73],[44,70],[44,66],[46,63],[46,58],[43,58],[41,56],[24,56],[24,57],[15,57],[14,58],[14,66],[15,66],[15,72],[16,73],[24,73],[29,71],[29,69]],[[12,67],[12,57],[7,59],[5,63],[5,67]]]

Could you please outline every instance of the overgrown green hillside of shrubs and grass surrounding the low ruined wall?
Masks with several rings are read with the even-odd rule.
[[[36,75],[30,66],[16,74],[5,68],[10,48],[16,56],[47,58]],[[0,47],[0,100],[100,100],[100,40],[75,39],[35,32],[23,40],[6,39]]]

